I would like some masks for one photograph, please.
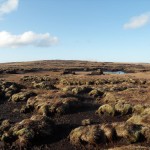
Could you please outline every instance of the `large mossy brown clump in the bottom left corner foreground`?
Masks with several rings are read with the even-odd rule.
[[[7,143],[19,142],[19,145],[30,145],[37,139],[51,137],[54,134],[54,122],[41,115],[34,115],[16,123],[2,135],[1,140]]]

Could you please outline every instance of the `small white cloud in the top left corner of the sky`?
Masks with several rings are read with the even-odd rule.
[[[18,8],[19,0],[5,0],[0,4],[0,17]]]

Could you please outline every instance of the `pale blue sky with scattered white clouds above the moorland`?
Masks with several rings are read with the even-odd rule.
[[[0,0],[0,62],[149,56],[150,0]]]

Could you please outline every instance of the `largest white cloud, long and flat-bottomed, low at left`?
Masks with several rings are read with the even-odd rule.
[[[16,48],[22,46],[49,47],[58,43],[58,38],[49,33],[37,34],[32,31],[20,35],[13,35],[9,32],[0,32],[0,48]]]

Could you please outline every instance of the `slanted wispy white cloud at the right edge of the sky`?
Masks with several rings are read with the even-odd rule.
[[[124,24],[124,29],[136,29],[140,28],[150,22],[150,13],[142,14],[140,16],[135,16],[130,19],[130,21]]]

